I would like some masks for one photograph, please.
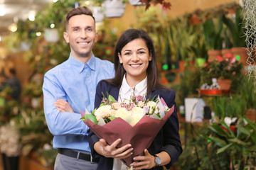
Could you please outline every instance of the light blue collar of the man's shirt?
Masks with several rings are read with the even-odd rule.
[[[70,57],[68,58],[68,62],[70,62],[70,64],[72,64],[73,66],[75,66],[75,69],[78,70],[78,72],[82,72],[82,70],[88,66],[90,67],[90,69],[95,70],[95,55],[92,53],[92,57],[90,58],[90,60],[84,64],[82,62],[79,62],[78,60],[75,60],[74,57],[71,55],[70,52]]]

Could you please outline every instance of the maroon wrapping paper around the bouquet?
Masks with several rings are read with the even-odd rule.
[[[122,139],[122,142],[120,142],[117,147],[131,144],[134,148],[133,154],[126,159],[122,159],[122,162],[129,166],[133,162],[133,157],[142,155],[144,149],[149,148],[151,142],[153,142],[157,133],[161,130],[172,113],[174,113],[174,106],[161,120],[144,115],[134,127],[129,125],[129,123],[122,118],[115,118],[110,123],[102,126],[92,123],[90,120],[84,120],[84,123],[95,132],[98,137],[105,139],[109,145],[119,138]],[[81,115],[84,116],[85,113],[81,112]]]

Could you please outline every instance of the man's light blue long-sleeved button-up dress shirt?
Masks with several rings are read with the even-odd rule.
[[[43,108],[46,123],[53,134],[53,148],[79,149],[90,152],[89,129],[80,120],[80,111],[93,111],[97,83],[114,77],[114,64],[92,55],[86,64],[68,60],[46,72],[43,80]],[[68,101],[75,113],[60,112],[58,99]]]

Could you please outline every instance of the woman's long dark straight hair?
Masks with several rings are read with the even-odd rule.
[[[149,56],[151,55],[151,61],[149,61],[149,67],[146,69],[147,75],[147,94],[151,94],[153,89],[156,87],[161,87],[157,79],[157,68],[156,68],[156,54],[154,50],[154,45],[149,37],[148,33],[144,30],[137,30],[137,29],[129,29],[124,31],[120,36],[119,40],[117,40],[117,45],[114,49],[114,70],[115,75],[113,79],[107,79],[106,81],[110,84],[114,84],[118,88],[122,85],[122,79],[125,74],[125,69],[122,64],[119,62],[118,53],[121,54],[122,48],[127,45],[127,43],[131,42],[135,39],[142,39],[146,43],[146,47],[149,49]]]

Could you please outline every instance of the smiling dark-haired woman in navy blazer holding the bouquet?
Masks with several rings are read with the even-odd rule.
[[[147,98],[159,95],[169,108],[175,105],[174,113],[156,135],[151,146],[144,149],[143,156],[134,157],[132,163],[134,169],[163,169],[162,166],[169,169],[182,152],[175,94],[157,81],[154,45],[144,30],[129,29],[121,35],[114,51],[114,69],[113,79],[102,80],[97,84],[95,108],[100,106],[102,92],[104,96],[110,94],[118,101],[130,98],[133,92],[136,96],[147,94]],[[89,137],[92,157],[100,157],[97,169],[125,169],[120,159],[132,154],[131,145],[117,149],[116,146],[122,139],[107,145],[104,139],[99,139],[93,132],[90,132]]]

